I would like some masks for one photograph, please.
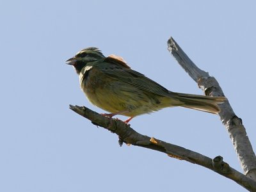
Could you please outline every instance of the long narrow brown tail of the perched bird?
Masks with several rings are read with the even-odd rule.
[[[220,113],[218,104],[225,102],[226,97],[210,97],[204,95],[191,95],[186,93],[170,92],[173,98],[179,100],[179,106],[196,109],[208,113]]]

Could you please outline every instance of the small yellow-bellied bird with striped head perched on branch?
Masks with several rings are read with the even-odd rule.
[[[109,112],[102,115],[128,116],[126,124],[135,116],[176,106],[218,114],[218,104],[226,100],[226,97],[172,92],[132,70],[122,57],[104,56],[97,47],[82,49],[66,63],[75,68],[88,100]]]

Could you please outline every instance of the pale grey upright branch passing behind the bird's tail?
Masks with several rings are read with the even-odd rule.
[[[172,37],[168,40],[168,50],[180,66],[188,72],[189,76],[198,83],[198,86],[205,92],[205,95],[224,95],[216,79],[209,76],[204,70],[196,67],[195,63],[188,58]],[[228,101],[220,104],[220,108],[221,112],[219,115],[221,121],[228,131],[244,173],[253,180],[256,180],[256,157],[242,120],[236,116]]]

